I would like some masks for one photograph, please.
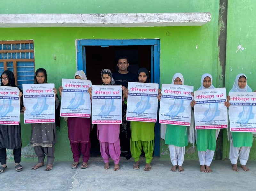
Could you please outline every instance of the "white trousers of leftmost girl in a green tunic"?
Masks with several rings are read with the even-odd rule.
[[[185,147],[177,147],[175,145],[168,145],[170,150],[170,158],[172,165],[182,166],[185,156]]]

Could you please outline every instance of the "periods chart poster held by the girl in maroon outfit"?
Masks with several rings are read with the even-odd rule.
[[[62,79],[60,117],[91,117],[90,80]]]

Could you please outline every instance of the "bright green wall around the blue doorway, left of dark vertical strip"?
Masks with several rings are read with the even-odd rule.
[[[211,73],[213,85],[221,71],[218,61],[219,2],[215,0],[149,0],[149,1],[28,0],[4,1],[0,13],[141,13],[141,12],[211,12],[210,23],[200,27],[135,27],[135,28],[0,28],[0,40],[34,40],[36,69],[47,70],[48,82],[59,87],[61,78],[73,78],[76,72],[76,39],[160,39],[160,82],[171,83],[172,75],[181,72],[186,85],[200,87],[203,73]],[[26,6],[29,5],[29,6]],[[145,6],[147,5],[147,6]],[[56,56],[56,60],[54,57]],[[54,66],[54,67],[53,67]],[[96,74],[98,75],[98,74]],[[22,157],[32,160],[33,149],[28,145],[30,125],[22,124]],[[56,160],[72,160],[67,124],[62,121]],[[189,145],[187,148],[191,147]],[[161,141],[161,159],[169,160],[168,147]],[[10,152],[9,152],[10,153]],[[197,159],[197,152],[185,156]],[[24,158],[25,160],[25,158]],[[37,159],[35,159],[37,160]]]

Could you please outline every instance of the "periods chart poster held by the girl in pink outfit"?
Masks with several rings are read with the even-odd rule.
[[[92,124],[122,123],[122,86],[92,86]]]

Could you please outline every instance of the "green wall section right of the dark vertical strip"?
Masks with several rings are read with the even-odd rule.
[[[256,1],[228,1],[226,81],[227,92],[233,87],[236,75],[244,73],[252,91],[256,90],[255,65],[255,9]],[[241,46],[239,46],[241,45]],[[229,157],[229,141],[223,133],[223,158]],[[255,137],[254,137],[255,140]],[[256,142],[250,152],[250,159],[256,159]]]

